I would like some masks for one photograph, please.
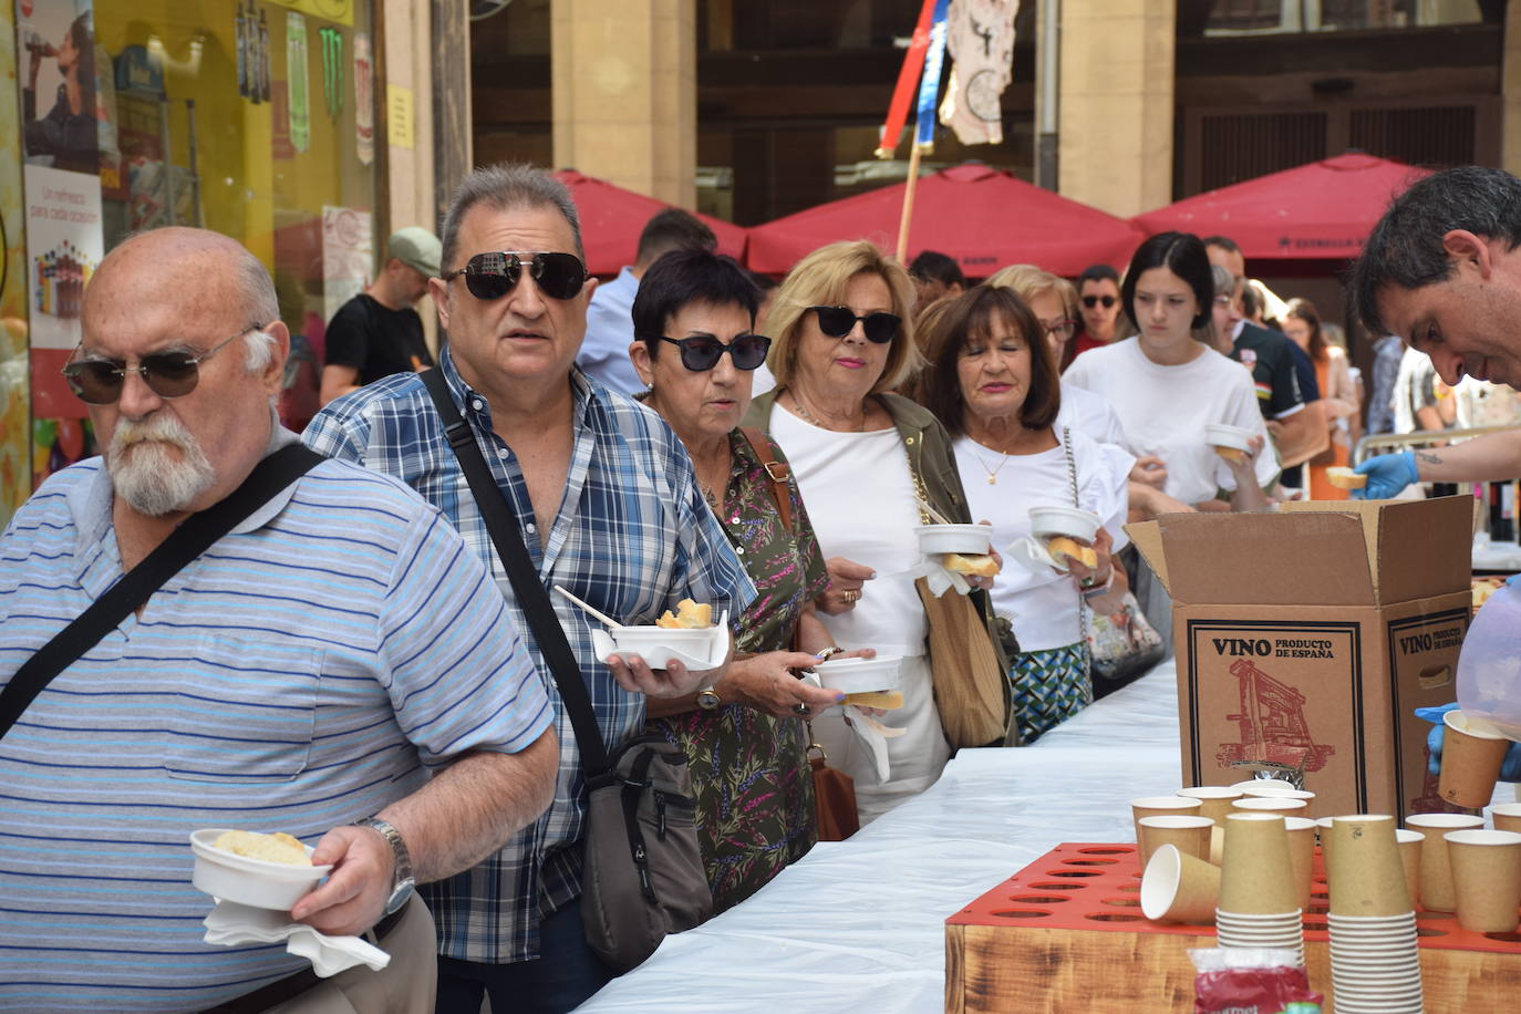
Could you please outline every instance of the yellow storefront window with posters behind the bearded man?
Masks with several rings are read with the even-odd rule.
[[[18,0],[15,14],[21,129],[6,143],[24,160],[33,477],[93,453],[58,369],[84,284],[144,228],[210,228],[269,268],[300,427],[324,322],[373,272],[371,5]]]

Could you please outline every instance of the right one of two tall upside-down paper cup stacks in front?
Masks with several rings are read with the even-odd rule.
[[[1338,1014],[1419,1014],[1416,914],[1395,818],[1363,813],[1331,825],[1331,985]]]

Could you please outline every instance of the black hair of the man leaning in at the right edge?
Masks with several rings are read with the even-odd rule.
[[[1433,173],[1395,198],[1352,265],[1352,307],[1373,334],[1389,328],[1378,315],[1386,286],[1419,289],[1443,281],[1454,261],[1442,245],[1453,230],[1521,245],[1521,179],[1503,169],[1463,166]]]

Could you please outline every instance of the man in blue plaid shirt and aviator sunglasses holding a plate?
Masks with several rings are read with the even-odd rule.
[[[430,281],[450,341],[440,369],[545,587],[563,585],[622,623],[653,623],[683,597],[738,616],[754,587],[686,450],[654,412],[573,365],[596,281],[564,187],[528,166],[478,169],[455,193],[443,245],[444,275]],[[561,754],[549,810],[424,892],[440,933],[438,1009],[475,1014],[484,991],[497,1011],[570,1009],[611,978],[581,926],[581,759],[443,423],[423,382],[397,374],[329,404],[304,439],[402,479],[453,521],[491,567],[555,704]],[[602,664],[592,620],[551,599],[610,749],[642,730],[645,695],[692,693],[721,675]]]

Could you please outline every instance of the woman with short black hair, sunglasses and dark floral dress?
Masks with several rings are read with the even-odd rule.
[[[628,347],[649,386],[640,400],[681,438],[759,591],[735,619],[729,673],[695,696],[648,702],[649,731],[689,759],[716,911],[814,845],[803,719],[838,698],[792,672],[834,645],[814,616],[812,599],[829,576],[808,512],[786,479],[786,459],[764,435],[738,429],[753,371],[771,345],[753,333],[759,295],[729,257],[672,251],[639,283]]]

